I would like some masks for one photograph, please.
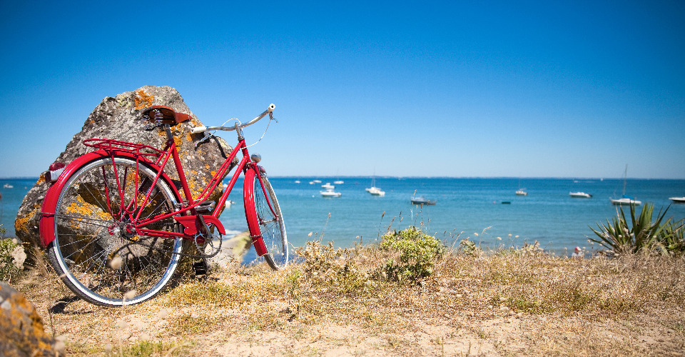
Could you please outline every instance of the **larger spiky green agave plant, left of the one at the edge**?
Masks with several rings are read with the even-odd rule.
[[[612,221],[607,220],[607,224],[597,223],[599,231],[590,227],[599,239],[590,238],[592,241],[601,244],[617,253],[637,253],[642,249],[652,249],[656,243],[666,237],[666,227],[670,226],[671,218],[664,221],[669,207],[662,212],[659,209],[656,221],[652,221],[654,216],[654,205],[646,203],[639,216],[636,215],[635,205],[630,205],[630,223],[626,219],[623,207],[619,206],[617,216]]]

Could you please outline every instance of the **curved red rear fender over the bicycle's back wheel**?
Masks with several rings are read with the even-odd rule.
[[[136,156],[135,154],[132,154],[128,151],[108,152],[104,150],[98,150],[85,154],[83,156],[78,156],[78,158],[71,161],[71,163],[64,168],[64,171],[62,171],[62,173],[59,175],[57,181],[52,186],[50,186],[50,188],[48,188],[48,191],[45,194],[45,198],[43,199],[43,206],[41,206],[41,219],[39,224],[41,232],[41,243],[43,243],[43,246],[48,246],[48,244],[51,241],[55,240],[55,208],[57,206],[57,200],[59,199],[59,193],[62,191],[62,188],[64,188],[66,181],[68,181],[68,179],[71,178],[71,175],[76,173],[78,169],[81,169],[81,166],[88,164],[89,162],[94,161],[96,159],[110,157],[111,154],[113,154],[114,156],[123,156],[132,160],[138,159],[138,161],[141,164],[149,166],[153,170],[161,170],[159,166],[153,164],[145,157]],[[178,192],[178,188],[176,188],[176,185],[173,184],[173,181],[171,181],[171,178],[169,178],[169,176],[167,176],[167,174],[165,173],[162,173],[160,178],[166,181],[166,183],[168,183],[169,186],[171,186],[173,194],[176,196],[176,201],[180,202],[181,194]]]

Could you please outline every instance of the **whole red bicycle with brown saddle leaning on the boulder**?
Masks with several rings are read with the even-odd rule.
[[[240,174],[244,175],[245,218],[255,251],[273,269],[285,267],[288,238],[283,215],[265,170],[258,165],[261,157],[250,156],[243,137],[246,126],[267,115],[274,120],[274,108],[271,104],[246,124],[238,121],[232,127],[193,129],[193,133],[235,130],[238,134],[238,145],[196,198],[170,130],[191,116],[167,106],[143,111],[143,118],[150,121],[146,129],[166,131],[165,149],[87,139],[83,144],[96,151],[66,167],[53,164],[52,177],[57,177],[43,201],[40,232],[48,261],[66,286],[84,300],[103,306],[141,303],[156,296],[171,281],[183,256],[206,261],[220,251],[225,229],[218,217]],[[243,157],[219,201],[208,201],[238,152]],[[164,172],[170,159],[183,196]],[[183,241],[194,244],[196,251],[183,253]]]

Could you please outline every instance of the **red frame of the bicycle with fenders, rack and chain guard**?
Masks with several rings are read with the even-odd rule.
[[[161,238],[184,238],[199,240],[203,238],[198,238],[198,231],[205,231],[208,228],[208,225],[211,224],[216,227],[219,233],[225,234],[223,224],[220,223],[218,217],[220,216],[220,213],[223,211],[223,206],[225,206],[225,202],[226,200],[228,200],[230,192],[233,190],[236,181],[238,181],[238,177],[242,173],[245,175],[245,180],[243,183],[243,200],[245,203],[245,218],[248,222],[250,237],[253,240],[253,245],[255,246],[255,251],[257,251],[258,256],[263,256],[265,253],[268,253],[263,242],[260,230],[258,228],[259,218],[257,217],[255,212],[248,211],[248,207],[254,206],[253,188],[255,178],[260,181],[260,188],[263,191],[265,190],[261,178],[261,174],[265,171],[261,166],[258,166],[257,162],[250,161],[250,154],[248,152],[248,147],[245,144],[245,138],[243,137],[243,133],[240,129],[240,126],[238,126],[238,124],[236,124],[235,126],[236,131],[238,131],[238,145],[236,145],[235,148],[233,148],[233,150],[230,152],[225,161],[223,161],[223,164],[221,164],[218,171],[212,176],[207,186],[205,186],[203,191],[201,191],[201,193],[196,198],[193,198],[193,193],[191,192],[191,189],[188,186],[188,180],[186,178],[185,171],[183,171],[181,159],[178,156],[178,148],[176,147],[176,142],[173,140],[173,135],[171,134],[169,125],[164,124],[164,126],[167,132],[168,140],[166,142],[166,148],[163,151],[143,144],[134,144],[128,143],[126,141],[116,141],[112,139],[84,140],[83,143],[86,144],[86,146],[92,146],[99,150],[94,151],[90,154],[86,154],[85,156],[81,156],[81,158],[83,159],[79,158],[73,161],[68,166],[66,166],[66,168],[64,169],[56,183],[54,183],[54,185],[51,186],[51,188],[49,188],[49,191],[46,194],[46,198],[44,199],[43,208],[41,209],[41,221],[44,220],[44,222],[41,222],[41,238],[43,240],[44,245],[47,246],[52,240],[54,240],[54,208],[56,206],[57,200],[59,199],[59,192],[62,190],[64,184],[66,183],[66,181],[68,181],[68,178],[76,171],[76,169],[78,169],[78,167],[83,165],[85,162],[92,160],[93,156],[96,159],[99,159],[102,156],[109,156],[111,157],[112,162],[114,162],[115,156],[128,156],[129,158],[136,160],[136,171],[138,171],[138,165],[140,164],[150,166],[151,168],[157,171],[156,177],[153,179],[150,188],[148,188],[146,195],[140,203],[138,203],[137,197],[134,198],[133,201],[131,201],[131,203],[129,203],[126,207],[123,207],[123,203],[121,203],[120,212],[121,214],[131,214],[132,217],[130,225],[131,227],[135,228],[136,233],[140,233],[145,236],[156,236]],[[153,151],[153,154],[141,152],[141,149],[151,149]],[[230,165],[235,159],[235,157],[238,155],[238,152],[241,152],[243,154],[243,158],[235,167],[235,172],[233,173],[233,176],[230,178],[228,186],[224,188],[223,193],[218,201],[218,204],[215,206],[214,210],[211,212],[210,215],[199,214],[196,211],[196,208],[210,196],[210,194],[217,188],[218,184],[222,181],[222,178],[228,174]],[[146,156],[156,156],[156,160],[151,161],[147,159]],[[168,164],[169,159],[172,159],[174,166],[176,166],[176,172],[178,173],[179,181],[181,181],[181,188],[183,190],[183,195],[185,196],[186,201],[181,201],[180,192],[178,192],[178,189],[176,189],[175,185],[171,184],[179,201],[176,207],[176,211],[170,213],[161,213],[157,216],[144,218],[143,220],[139,221],[142,211],[138,211],[138,207],[146,206],[146,204],[150,200],[150,196],[153,192],[153,188],[157,184],[157,181],[162,179],[164,181],[167,181],[167,183],[171,183],[171,178],[169,178],[164,173],[164,168],[166,167],[166,164]],[[116,167],[114,170],[116,172]],[[119,190],[121,190],[121,187],[123,185],[120,182],[118,182],[118,175],[116,175],[116,180],[116,187]],[[136,186],[139,185],[137,180],[138,173],[136,172]],[[125,184],[126,182],[124,179],[124,185]],[[270,210],[274,212],[273,203],[271,203],[268,200],[268,194],[265,191],[264,193],[265,197],[267,197],[267,203]],[[110,204],[111,203],[108,202],[108,209],[110,209],[111,211]],[[183,226],[184,229],[182,233],[156,231],[145,228],[146,226],[152,223],[161,221],[169,217],[173,217],[174,220],[176,220]]]

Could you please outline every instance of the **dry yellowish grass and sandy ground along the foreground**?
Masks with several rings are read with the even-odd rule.
[[[308,263],[187,278],[151,301],[100,308],[54,273],[17,288],[73,356],[679,356],[685,260],[572,260],[534,250],[445,253],[415,284],[388,253],[313,245]]]

